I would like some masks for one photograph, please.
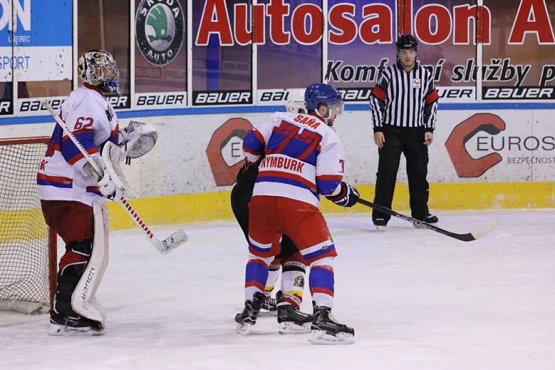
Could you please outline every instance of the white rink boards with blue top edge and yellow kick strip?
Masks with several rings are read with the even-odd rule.
[[[495,105],[490,105],[495,107]],[[526,105],[521,105],[526,107]],[[448,105],[444,105],[444,108]],[[549,208],[555,206],[555,122],[552,109],[441,109],[429,147],[430,209]],[[533,107],[533,105],[530,105]],[[123,171],[137,198],[133,206],[150,224],[232,218],[229,197],[242,164],[246,131],[271,116],[257,107],[120,111],[120,125],[131,117],[158,130],[152,152]],[[474,107],[472,107],[474,108]],[[255,111],[255,112],[253,112]],[[214,114],[216,113],[216,114]],[[49,135],[44,116],[2,121],[3,137]],[[345,147],[345,180],[373,199],[377,147],[366,105],[350,105],[335,124]],[[394,209],[408,206],[404,159],[398,173]],[[324,200],[325,212],[341,212]],[[369,211],[356,206],[348,211]],[[112,228],[133,224],[117,204],[110,206]]]

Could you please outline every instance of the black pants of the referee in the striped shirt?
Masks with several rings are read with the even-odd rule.
[[[378,149],[379,163],[376,174],[374,202],[391,209],[402,153],[405,159],[407,159],[411,215],[413,218],[423,219],[429,213],[429,185],[426,181],[428,173],[428,146],[423,144],[424,128],[386,125],[384,127],[384,136],[386,139],[384,147]],[[384,218],[387,222],[391,216],[373,210],[372,219],[375,220],[376,218]]]

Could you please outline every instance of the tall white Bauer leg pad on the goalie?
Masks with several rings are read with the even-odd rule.
[[[92,208],[94,215],[92,255],[71,295],[71,308],[78,315],[97,321],[99,330],[103,331],[106,312],[94,295],[108,265],[108,212],[105,206],[100,204],[94,204]]]

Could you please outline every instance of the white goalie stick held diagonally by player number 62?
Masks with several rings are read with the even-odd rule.
[[[96,173],[96,176],[99,176],[99,174],[102,173],[102,170],[99,167],[99,165],[96,164],[96,162],[91,158],[89,153],[87,153],[87,150],[85,150],[85,148],[83,148],[83,146],[78,141],[78,139],[75,137],[75,135],[69,130],[69,127],[67,127],[65,122],[62,121],[62,118],[60,118],[60,116],[58,116],[58,114],[56,114],[56,112],[54,112],[54,109],[52,109],[52,107],[48,103],[48,100],[46,100],[46,99],[42,100],[42,104],[44,105],[44,107],[46,107],[46,109],[48,109],[48,111],[54,117],[54,119],[56,119],[56,122],[58,123],[58,125],[60,125],[60,127],[62,127],[62,129],[64,129],[64,131],[67,134],[67,136],[69,137],[69,139],[71,139],[71,141],[73,141],[73,143],[78,148],[78,150],[81,152],[81,154],[83,154],[83,157],[85,157],[85,159],[87,159],[87,162],[89,162],[89,164],[92,166],[94,172]],[[148,240],[150,240],[150,242],[154,245],[156,250],[158,252],[160,252],[160,254],[167,254],[167,253],[171,252],[171,250],[176,249],[177,247],[179,247],[180,245],[182,245],[183,243],[185,243],[187,241],[188,237],[187,237],[187,234],[185,233],[185,230],[183,230],[183,229],[179,229],[178,231],[174,232],[173,234],[171,234],[168,238],[166,238],[164,240],[159,240],[158,238],[156,238],[154,236],[151,229],[142,220],[141,216],[139,216],[137,211],[135,211],[133,206],[131,206],[131,204],[126,200],[125,197],[123,197],[123,196],[120,197],[120,199],[117,200],[117,202],[121,203],[123,208],[126,209],[127,213],[129,213],[131,218],[133,218],[133,221],[135,221],[135,223],[139,226],[139,229],[141,229],[143,231],[144,235],[146,235],[146,238],[148,238]]]

